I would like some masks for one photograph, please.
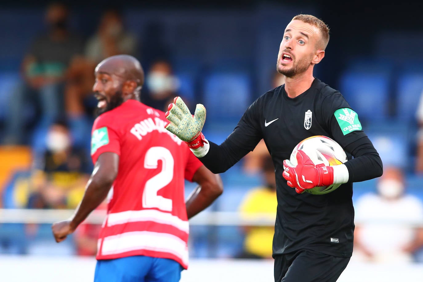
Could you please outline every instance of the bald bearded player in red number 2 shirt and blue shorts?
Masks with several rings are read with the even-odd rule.
[[[94,281],[179,281],[188,266],[188,219],[222,194],[221,179],[164,128],[163,112],[139,101],[144,73],[137,59],[109,57],[95,77],[94,170],[74,215],[52,225],[55,240],[66,239],[109,194]],[[186,203],[184,179],[199,184]]]

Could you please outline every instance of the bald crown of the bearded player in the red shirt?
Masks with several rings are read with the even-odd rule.
[[[140,62],[130,55],[108,57],[97,65],[95,72],[115,75],[124,81],[135,81],[139,87],[144,84],[143,68]]]

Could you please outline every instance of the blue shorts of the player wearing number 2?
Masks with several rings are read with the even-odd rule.
[[[182,266],[167,258],[132,256],[97,260],[94,282],[178,282]]]

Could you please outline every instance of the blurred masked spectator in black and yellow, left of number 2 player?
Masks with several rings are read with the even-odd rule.
[[[50,126],[47,151],[36,160],[29,208],[75,208],[82,198],[88,180],[88,160],[85,152],[72,146],[67,124]]]

